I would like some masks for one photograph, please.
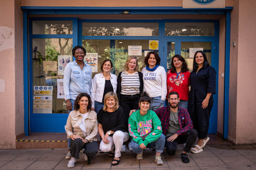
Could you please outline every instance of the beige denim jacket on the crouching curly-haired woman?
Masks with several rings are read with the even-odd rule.
[[[79,128],[80,123],[82,122],[83,117],[80,115],[80,111],[72,111],[68,115],[66,132],[68,134],[68,138],[70,135],[75,134],[77,136],[82,137],[83,139],[87,139],[89,142],[92,140],[97,141],[97,133],[98,133],[98,121],[97,114],[94,111],[89,111],[87,118],[84,120],[86,127],[86,136],[83,131]],[[73,131],[73,132],[72,132]]]

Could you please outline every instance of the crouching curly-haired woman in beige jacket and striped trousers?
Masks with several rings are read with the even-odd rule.
[[[87,93],[80,93],[75,100],[74,111],[70,112],[66,125],[68,138],[71,138],[68,168],[75,166],[76,159],[79,159],[79,152],[83,148],[85,161],[89,165],[91,158],[98,152],[97,144],[97,114],[91,111],[92,101]]]

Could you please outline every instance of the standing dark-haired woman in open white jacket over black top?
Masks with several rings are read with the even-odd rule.
[[[94,76],[92,80],[91,98],[92,110],[98,114],[99,110],[104,107],[104,97],[108,92],[116,93],[117,77],[110,73],[113,63],[106,59],[101,65],[101,73]]]

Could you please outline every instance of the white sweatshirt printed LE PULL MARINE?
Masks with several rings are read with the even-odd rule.
[[[155,71],[148,71],[146,67],[142,69],[144,91],[150,97],[161,96],[161,100],[166,99],[167,86],[166,86],[166,72],[164,67],[158,66]]]

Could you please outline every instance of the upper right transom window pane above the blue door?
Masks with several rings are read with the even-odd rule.
[[[165,23],[165,36],[214,36],[214,23]]]

